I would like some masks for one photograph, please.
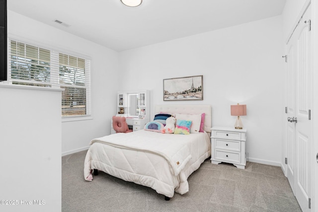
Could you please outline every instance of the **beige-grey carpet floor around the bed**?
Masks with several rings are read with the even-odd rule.
[[[104,172],[83,177],[86,151],[62,157],[63,212],[301,212],[278,166],[247,162],[244,170],[206,159],[189,176],[189,192],[165,201],[155,190]]]

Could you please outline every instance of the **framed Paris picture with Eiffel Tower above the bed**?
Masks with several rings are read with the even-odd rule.
[[[163,79],[163,101],[203,100],[203,75]]]

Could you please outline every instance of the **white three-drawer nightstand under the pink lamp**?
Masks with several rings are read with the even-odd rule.
[[[211,128],[211,163],[233,163],[236,167],[245,169],[245,141],[246,129]]]

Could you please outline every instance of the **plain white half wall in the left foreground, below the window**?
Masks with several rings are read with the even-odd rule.
[[[0,84],[0,200],[17,201],[0,210],[58,212],[61,89],[21,87]]]

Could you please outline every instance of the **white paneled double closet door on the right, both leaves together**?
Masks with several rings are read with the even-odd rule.
[[[287,177],[303,212],[311,211],[312,51],[308,7],[289,41],[287,98]]]

